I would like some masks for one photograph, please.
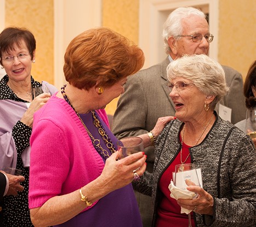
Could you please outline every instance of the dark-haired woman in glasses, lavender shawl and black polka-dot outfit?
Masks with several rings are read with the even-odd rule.
[[[24,191],[5,196],[3,226],[32,226],[29,212],[30,136],[33,114],[56,91],[47,82],[39,83],[31,75],[36,59],[36,39],[26,28],[8,27],[0,34],[0,64],[6,75],[0,81],[0,170],[19,168],[25,181]],[[47,86],[50,94],[33,97],[32,89]]]

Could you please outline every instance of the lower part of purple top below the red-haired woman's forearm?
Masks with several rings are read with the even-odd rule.
[[[106,195],[92,208],[56,227],[142,227],[132,185]]]

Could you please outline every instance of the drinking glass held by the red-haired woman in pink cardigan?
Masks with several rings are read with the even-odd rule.
[[[132,136],[117,141],[117,148],[122,149],[123,158],[137,152],[144,152],[143,140],[140,137]]]

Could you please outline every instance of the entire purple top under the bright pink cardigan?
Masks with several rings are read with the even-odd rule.
[[[113,145],[117,145],[117,138],[110,131],[109,127],[104,123],[99,115],[95,112],[97,118],[100,120],[101,125],[109,136]],[[101,146],[109,151],[106,147],[103,138],[99,135],[98,129],[93,124],[92,113],[80,114],[84,124],[96,139],[100,139]],[[109,152],[111,155],[111,152]],[[104,159],[103,159],[104,160]],[[104,160],[105,161],[105,160]],[[59,227],[75,227],[75,226],[101,226],[101,227],[140,227],[141,218],[138,205],[134,196],[133,187],[131,184],[121,189],[115,190],[106,195],[91,209],[86,212],[78,214],[68,222],[56,225]]]

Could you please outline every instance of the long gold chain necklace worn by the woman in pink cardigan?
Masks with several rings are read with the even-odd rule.
[[[61,87],[61,94],[63,95],[65,101],[66,101],[67,103],[69,103],[70,106],[73,108],[73,110],[76,112],[76,109],[72,106],[72,103],[71,103],[71,101],[70,101],[70,99],[69,99],[69,96],[67,96],[67,94],[65,93],[65,88],[66,88],[66,84]],[[104,148],[101,146],[100,140],[99,140],[99,139],[95,139],[95,137],[92,135],[92,133],[90,133],[90,131],[89,131],[89,129],[87,128],[87,126],[84,124],[84,122],[83,122],[82,118],[80,117],[80,115],[79,115],[77,112],[76,112],[76,114],[77,114],[77,117],[79,118],[79,120],[81,121],[81,123],[82,123],[84,129],[86,129],[86,131],[87,131],[89,137],[92,139],[92,142],[93,142],[94,147],[100,149],[100,152],[101,152],[104,156],[109,157],[110,155],[109,155],[109,153],[107,152],[107,150],[104,149]],[[92,115],[93,115],[93,119],[94,119],[93,124],[98,128],[98,132],[100,133],[100,136],[103,138],[104,142],[106,143],[107,148],[110,149],[111,154],[115,153],[116,150],[115,150],[115,148],[114,148],[114,145],[113,145],[112,142],[109,141],[109,136],[107,136],[105,130],[104,130],[103,127],[101,126],[100,121],[99,121],[99,119],[96,117],[96,114],[95,114],[95,111],[94,111],[94,110],[92,111]]]

